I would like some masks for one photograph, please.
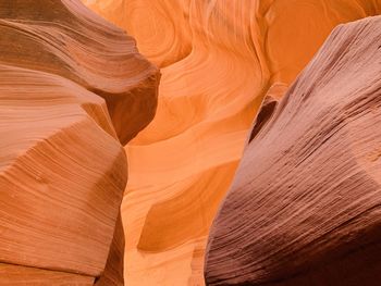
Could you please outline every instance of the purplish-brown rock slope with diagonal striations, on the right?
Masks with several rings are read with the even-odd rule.
[[[340,25],[265,102],[211,227],[207,285],[379,284],[380,39],[381,16]]]

